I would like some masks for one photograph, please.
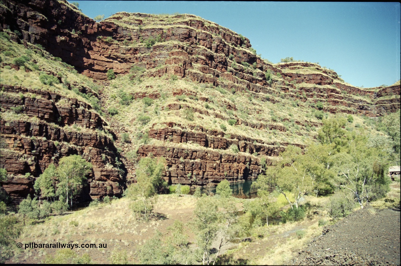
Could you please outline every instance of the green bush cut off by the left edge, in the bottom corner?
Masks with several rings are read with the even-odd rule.
[[[14,256],[16,239],[22,231],[15,216],[0,215],[0,263]]]

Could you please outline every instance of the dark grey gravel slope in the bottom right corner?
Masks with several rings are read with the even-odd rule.
[[[400,265],[400,210],[366,206],[323,228],[289,265]]]

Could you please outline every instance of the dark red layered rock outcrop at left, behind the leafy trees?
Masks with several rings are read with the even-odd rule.
[[[8,172],[8,180],[2,185],[10,196],[23,199],[33,194],[34,178],[49,164],[57,165],[60,158],[72,154],[81,155],[93,165],[89,187],[82,195],[84,199],[122,194],[124,182],[116,167],[118,158],[113,140],[101,132],[106,122],[90,111],[91,106],[41,90],[8,85],[2,85],[1,89],[2,114],[22,106],[20,114],[28,119],[38,118],[37,122],[7,121],[3,116],[0,120],[0,163]],[[41,98],[16,96],[18,93],[32,93]],[[64,104],[59,105],[61,102]]]

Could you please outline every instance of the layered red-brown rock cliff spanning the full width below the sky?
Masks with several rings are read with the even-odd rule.
[[[97,81],[101,90],[93,94],[104,112],[100,116],[78,98],[33,85],[2,84],[0,162],[10,174],[2,185],[14,198],[32,193],[34,178],[70,154],[81,154],[94,166],[85,192],[91,198],[121,195],[123,177],[135,180],[131,158],[150,154],[166,158],[170,183],[255,178],[262,158],[269,166],[286,146],[304,148],[304,138],[316,137],[313,131],[321,121],[309,113],[318,109],[318,102],[324,112],[372,117],[400,108],[400,85],[363,89],[318,64],[270,64],[256,55],[247,38],[193,15],[120,12],[97,23],[66,1],[50,0],[6,1],[0,14],[0,30],[8,29],[12,42],[27,49],[40,44]],[[6,65],[19,70],[2,63]],[[105,81],[108,70],[125,80]],[[51,69],[47,74],[58,76],[72,90],[62,75]],[[174,80],[184,83],[178,86]],[[140,85],[143,81],[146,86]],[[79,87],[79,93],[86,90]],[[122,91],[134,101],[129,109],[116,104],[116,99],[123,100]],[[142,107],[144,98],[156,102],[151,111]],[[119,114],[109,115],[109,105]],[[9,115],[18,106],[25,121]],[[141,108],[144,114],[139,114]],[[193,120],[188,110],[195,121],[187,121]],[[184,112],[187,119],[178,122]],[[221,124],[220,129],[215,124]],[[123,133],[130,134],[132,142],[120,141]],[[140,140],[144,134],[149,143]]]

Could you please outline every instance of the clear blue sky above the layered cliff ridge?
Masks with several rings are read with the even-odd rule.
[[[319,62],[354,86],[400,79],[398,2],[70,2],[90,18],[122,11],[201,16],[249,38],[262,58]]]

